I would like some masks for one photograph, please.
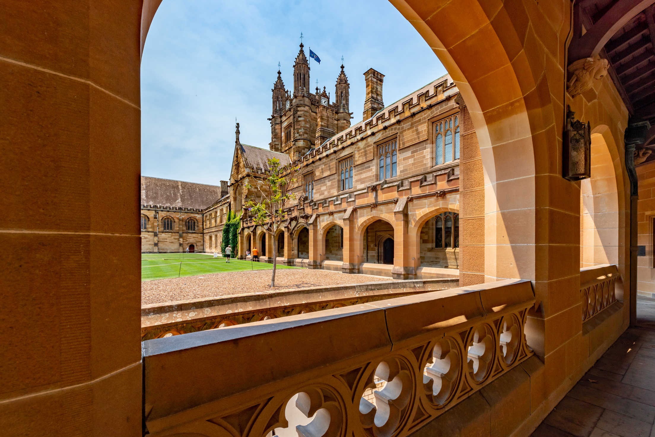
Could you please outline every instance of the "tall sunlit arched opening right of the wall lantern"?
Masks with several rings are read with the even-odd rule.
[[[591,135],[591,177],[580,182],[580,268],[619,264],[619,200],[605,138]]]

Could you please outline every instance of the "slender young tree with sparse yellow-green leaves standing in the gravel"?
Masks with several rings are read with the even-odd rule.
[[[291,164],[288,167],[282,167],[280,166],[280,160],[277,158],[269,158],[268,163],[269,170],[267,173],[269,177],[263,179],[261,183],[257,183],[257,186],[254,187],[261,196],[260,201],[248,201],[246,207],[250,208],[250,213],[254,216],[253,220],[256,224],[260,226],[269,225],[264,230],[273,240],[271,287],[275,287],[276,260],[278,258],[278,242],[275,234],[282,227],[284,208],[289,201],[296,198],[291,191],[298,186],[295,177],[299,169],[291,167]],[[250,189],[253,186],[248,184],[246,188]]]

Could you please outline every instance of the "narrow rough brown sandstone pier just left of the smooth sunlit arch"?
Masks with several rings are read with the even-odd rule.
[[[471,116],[461,95],[460,107],[460,210],[459,210],[459,285],[485,282],[485,181],[480,147]]]

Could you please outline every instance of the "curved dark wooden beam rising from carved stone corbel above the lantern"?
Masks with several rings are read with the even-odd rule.
[[[654,3],[655,0],[619,0],[584,35],[582,29],[575,29],[569,45],[569,63],[599,54],[618,29]]]

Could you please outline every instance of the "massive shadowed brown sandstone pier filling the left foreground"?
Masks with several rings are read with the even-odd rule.
[[[5,435],[143,434],[142,5],[3,3]]]

